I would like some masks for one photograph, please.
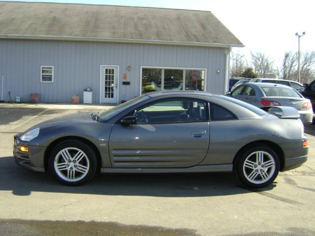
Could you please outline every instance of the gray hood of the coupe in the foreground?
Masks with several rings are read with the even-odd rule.
[[[32,128],[28,129],[31,130],[33,128],[39,127],[39,126],[44,126],[48,124],[56,124],[56,123],[61,123],[61,122],[69,122],[69,121],[94,121],[91,118],[91,112],[80,112],[80,113],[75,113],[75,114],[70,114],[58,118],[53,118],[53,119],[48,119],[43,122],[40,122],[36,125],[34,125]],[[95,121],[94,121],[95,122]]]

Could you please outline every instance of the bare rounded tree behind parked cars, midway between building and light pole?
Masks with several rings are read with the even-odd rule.
[[[266,56],[264,53],[251,51],[252,66],[255,73],[259,78],[275,77],[275,71],[273,69],[274,60]]]

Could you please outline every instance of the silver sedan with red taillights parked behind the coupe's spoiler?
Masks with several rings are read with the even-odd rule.
[[[230,94],[231,97],[250,103],[256,107],[294,107],[303,124],[311,124],[313,108],[311,101],[291,87],[271,83],[245,83]]]

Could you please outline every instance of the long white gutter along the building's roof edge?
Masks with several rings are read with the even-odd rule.
[[[119,42],[119,43],[146,43],[146,44],[167,44],[167,45],[186,45],[202,47],[244,47],[239,44],[224,43],[201,43],[201,42],[182,42],[155,39],[133,39],[133,38],[99,38],[99,37],[76,37],[76,36],[50,36],[50,35],[22,35],[22,34],[0,34],[0,38],[7,39],[38,39],[38,40],[70,40],[70,41],[94,41],[94,42]]]

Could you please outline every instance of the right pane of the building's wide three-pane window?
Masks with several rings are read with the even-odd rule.
[[[204,90],[204,70],[186,70],[186,90]]]

